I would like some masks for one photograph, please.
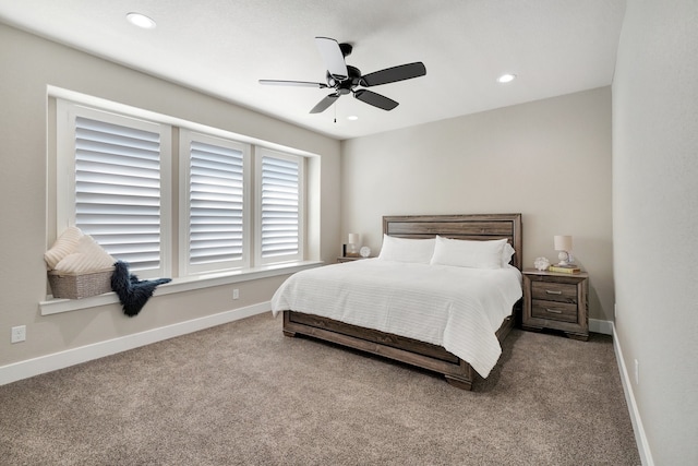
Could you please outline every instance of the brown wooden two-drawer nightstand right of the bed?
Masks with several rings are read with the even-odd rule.
[[[524,271],[524,330],[554,328],[570,338],[589,338],[589,275]]]

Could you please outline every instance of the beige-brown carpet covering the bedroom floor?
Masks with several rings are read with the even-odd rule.
[[[0,386],[3,465],[639,465],[610,337],[515,330],[472,392],[270,313]]]

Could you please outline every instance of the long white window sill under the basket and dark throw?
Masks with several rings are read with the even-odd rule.
[[[233,283],[249,282],[260,278],[274,277],[278,275],[293,274],[305,268],[313,268],[322,265],[322,261],[304,261],[289,264],[269,265],[264,267],[245,268],[241,271],[203,274],[192,277],[174,278],[172,282],[159,285],[155,289],[154,296],[171,295],[174,292],[191,291],[194,289],[209,288],[213,286],[229,285]],[[116,292],[105,292],[104,295],[91,296],[83,299],[53,299],[47,296],[45,301],[39,302],[41,315],[59,314],[61,312],[76,311],[80,309],[96,308],[118,303],[119,298]]]

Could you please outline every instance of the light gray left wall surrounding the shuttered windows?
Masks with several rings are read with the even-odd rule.
[[[268,301],[282,277],[156,297],[137,318],[109,304],[41,316],[46,298],[47,86],[58,86],[170,117],[318,154],[311,177],[311,249],[332,261],[339,243],[338,141],[100,60],[0,24],[0,367]],[[10,344],[10,328],[27,339]],[[279,324],[280,325],[280,324]]]

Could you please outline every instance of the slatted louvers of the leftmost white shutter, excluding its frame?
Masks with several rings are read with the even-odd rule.
[[[159,134],[77,117],[75,226],[135,270],[160,265]]]

